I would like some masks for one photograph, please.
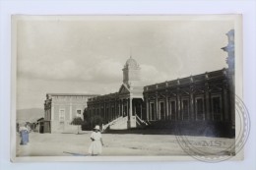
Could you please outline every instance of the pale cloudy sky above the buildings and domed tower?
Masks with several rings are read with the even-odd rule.
[[[73,20],[17,23],[17,109],[43,108],[46,93],[118,91],[132,56],[142,84],[226,68],[228,20]]]

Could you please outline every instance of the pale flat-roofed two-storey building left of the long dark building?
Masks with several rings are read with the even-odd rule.
[[[87,101],[96,94],[47,93],[44,101],[43,133],[62,133],[75,129],[70,125],[75,117],[84,119]]]

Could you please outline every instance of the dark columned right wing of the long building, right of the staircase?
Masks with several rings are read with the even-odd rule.
[[[230,121],[227,70],[144,87],[149,121]]]

